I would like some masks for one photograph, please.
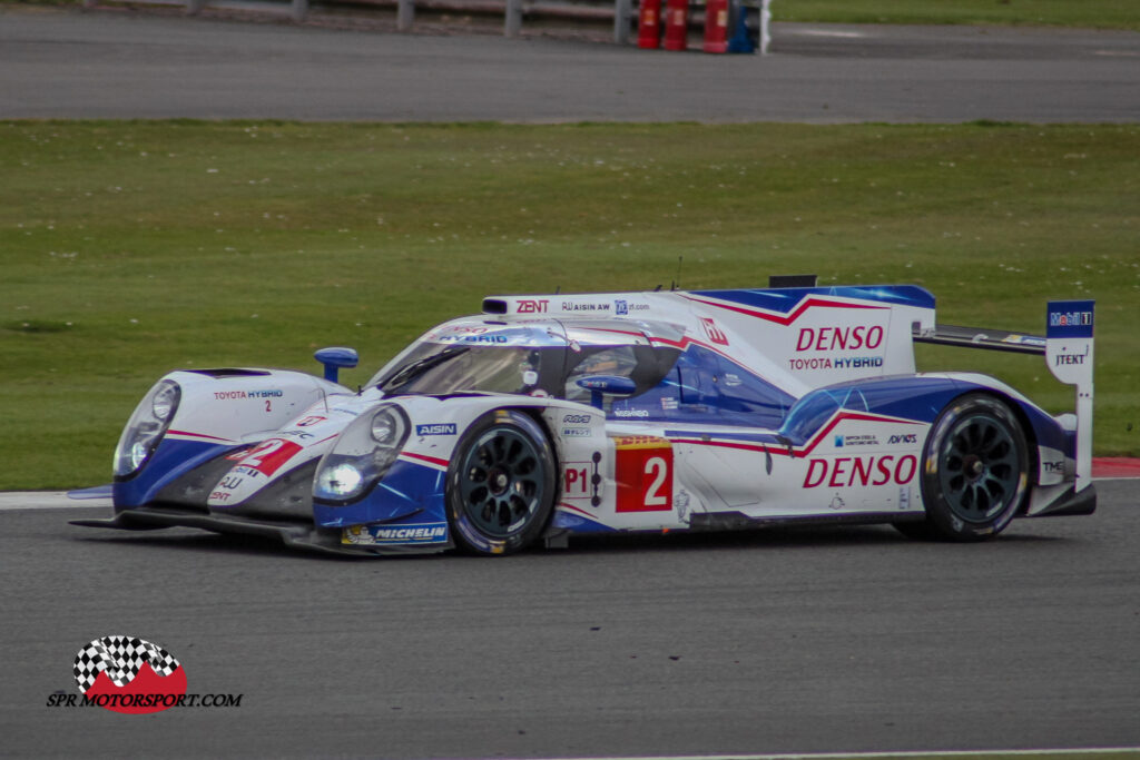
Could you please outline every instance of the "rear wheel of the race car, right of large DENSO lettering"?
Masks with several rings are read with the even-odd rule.
[[[974,393],[943,409],[922,451],[925,522],[897,523],[912,538],[980,541],[1000,533],[1028,489],[1021,424],[997,399]]]

